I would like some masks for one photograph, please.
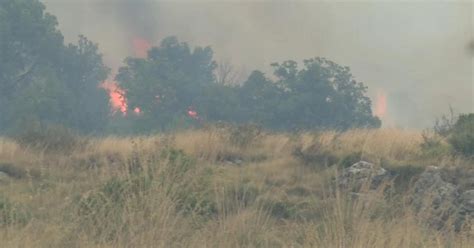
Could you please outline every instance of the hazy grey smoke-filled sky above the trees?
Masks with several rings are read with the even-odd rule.
[[[474,112],[472,1],[43,2],[67,41],[86,35],[111,67],[132,55],[133,37],[176,35],[246,71],[315,56],[349,66],[371,97],[387,95],[388,126],[429,126],[449,105]]]

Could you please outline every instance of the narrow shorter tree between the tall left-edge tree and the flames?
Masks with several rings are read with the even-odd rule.
[[[104,65],[97,45],[80,36],[77,45],[67,46],[58,67],[61,81],[67,87],[63,95],[68,99],[63,101],[62,115],[66,125],[84,132],[102,131],[110,108],[108,94],[99,84],[110,69]]]

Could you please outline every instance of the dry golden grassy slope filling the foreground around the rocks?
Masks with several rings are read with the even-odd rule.
[[[2,247],[474,243],[467,224],[438,230],[414,214],[407,198],[425,167],[464,174],[474,167],[459,156],[426,152],[417,131],[290,135],[212,127],[72,140],[54,149],[0,140]],[[354,197],[334,178],[360,160],[400,176]]]

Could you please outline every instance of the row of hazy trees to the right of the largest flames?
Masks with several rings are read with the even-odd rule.
[[[128,58],[117,75],[130,108],[140,106],[146,131],[207,122],[256,123],[273,129],[379,127],[367,88],[348,67],[324,59],[275,63],[277,81],[254,71],[241,86],[222,85],[213,76],[213,52],[190,49],[168,37],[148,57]],[[200,121],[186,116],[189,107]],[[147,123],[147,124],[144,124]],[[145,125],[145,126],[144,126]]]

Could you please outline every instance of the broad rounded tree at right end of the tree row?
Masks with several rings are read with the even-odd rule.
[[[348,67],[325,58],[274,63],[280,104],[271,121],[276,128],[312,129],[379,127],[372,115],[367,87],[354,80]]]

